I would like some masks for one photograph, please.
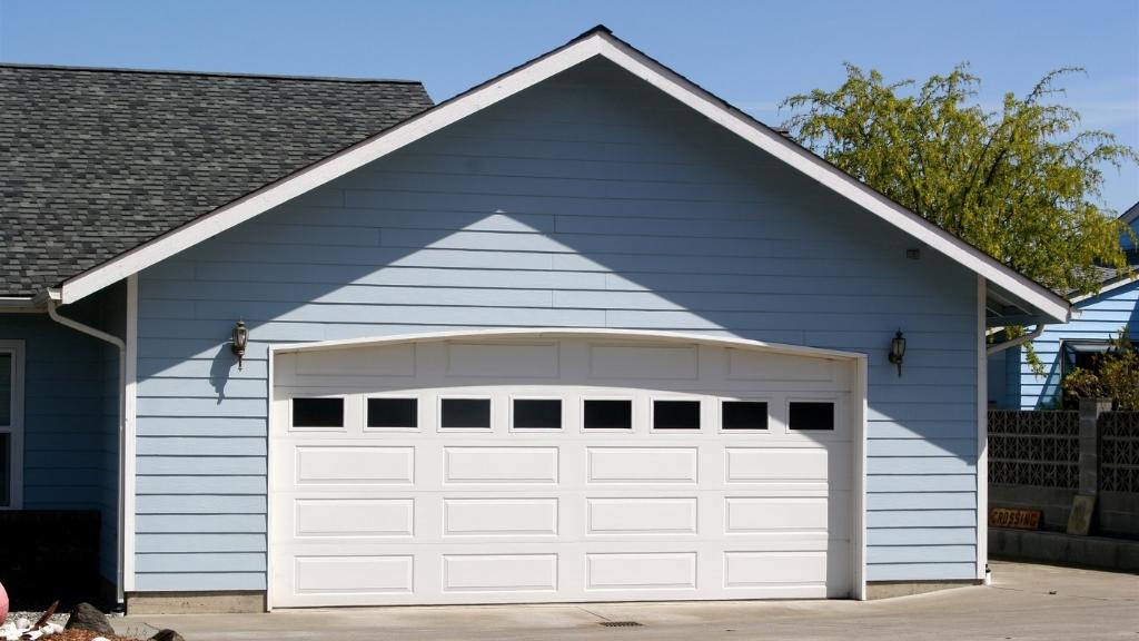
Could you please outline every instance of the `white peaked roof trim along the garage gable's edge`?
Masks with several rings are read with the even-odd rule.
[[[593,56],[601,56],[697,111],[721,127],[782,160],[867,211],[910,234],[994,285],[1021,297],[1058,322],[1068,303],[1047,287],[993,260],[949,232],[890,201],[853,177],[784,139],[743,112],[653,60],[604,30],[595,30],[509,73],[424,112],[372,138],[334,154],[178,229],[95,267],[63,284],[63,302],[87,297],[131,274],[165,260],[281,203],[363,167],[458,120],[523,91]]]

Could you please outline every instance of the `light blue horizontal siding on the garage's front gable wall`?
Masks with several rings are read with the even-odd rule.
[[[166,570],[139,589],[263,584],[162,557],[267,536],[260,504],[196,510],[264,492],[269,344],[535,326],[869,354],[869,578],[953,578],[976,543],[976,281],[913,246],[620,72],[562,74],[140,275],[138,545]]]

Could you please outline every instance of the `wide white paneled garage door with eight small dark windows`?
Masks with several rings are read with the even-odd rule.
[[[270,602],[846,595],[853,372],[631,336],[281,352]]]

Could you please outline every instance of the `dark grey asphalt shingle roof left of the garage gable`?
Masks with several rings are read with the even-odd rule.
[[[428,107],[418,82],[0,65],[0,297],[31,297]]]

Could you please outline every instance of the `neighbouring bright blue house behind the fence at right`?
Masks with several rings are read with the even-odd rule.
[[[1120,217],[1139,232],[1139,203]],[[1139,252],[1130,235],[1121,238],[1132,269],[1139,270]],[[1139,338],[1139,281],[1133,275],[1104,270],[1104,282],[1096,295],[1072,299],[1072,320],[1049,325],[1032,341],[1044,367],[1036,374],[1025,350],[1013,348],[989,359],[989,404],[1000,409],[1044,409],[1056,407],[1060,381],[1074,367],[1092,367],[1093,356],[1104,352],[1108,341],[1126,327],[1131,340]]]

